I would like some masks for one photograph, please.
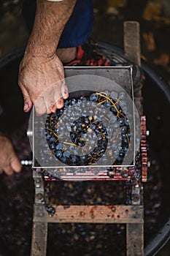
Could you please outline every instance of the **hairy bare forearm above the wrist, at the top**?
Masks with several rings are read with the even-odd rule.
[[[51,57],[55,54],[61,33],[72,15],[76,1],[36,1],[34,28],[28,40],[26,53],[42,57]]]

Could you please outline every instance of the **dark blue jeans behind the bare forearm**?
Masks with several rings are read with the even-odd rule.
[[[35,14],[36,0],[23,1],[23,18],[30,32],[34,25]],[[61,34],[58,48],[71,48],[82,45],[90,37],[93,22],[92,0],[77,0],[74,11]]]

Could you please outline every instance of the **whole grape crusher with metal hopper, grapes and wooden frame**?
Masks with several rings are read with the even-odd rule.
[[[135,81],[139,49],[139,23],[125,22],[125,57],[134,64],[65,67],[69,98],[63,108],[44,116],[32,111],[28,129],[35,184],[32,256],[46,255],[48,223],[61,222],[125,224],[127,255],[144,255],[147,128],[140,83],[136,86]],[[49,205],[45,182],[58,180],[125,181],[125,203]]]

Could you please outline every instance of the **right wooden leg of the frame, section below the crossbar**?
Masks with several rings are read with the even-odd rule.
[[[144,256],[144,225],[131,223],[126,225],[127,256]]]

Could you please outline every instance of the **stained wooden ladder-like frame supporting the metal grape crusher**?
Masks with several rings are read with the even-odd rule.
[[[131,43],[133,42],[133,43]],[[127,21],[124,23],[125,57],[140,66],[139,23]],[[136,100],[141,98],[141,92],[136,94]],[[146,151],[145,118],[142,116],[142,150]],[[146,181],[147,167],[143,166],[142,181]],[[126,225],[126,249],[128,256],[144,255],[144,206],[142,200],[142,182],[131,191],[131,205],[110,206],[56,206],[55,214],[49,215],[43,202],[44,178],[36,170],[33,171],[35,184],[34,218],[32,228],[31,256],[45,256],[47,253],[48,223],[81,222],[81,223],[121,223]],[[113,180],[114,178],[108,179]]]

